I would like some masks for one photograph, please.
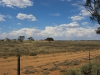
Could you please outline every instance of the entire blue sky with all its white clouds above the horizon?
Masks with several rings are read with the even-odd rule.
[[[0,39],[100,40],[95,32],[99,25],[77,4],[72,0],[0,0]]]

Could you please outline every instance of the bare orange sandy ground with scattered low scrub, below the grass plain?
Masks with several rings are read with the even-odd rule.
[[[91,59],[100,56],[100,50],[91,51]],[[88,51],[64,52],[37,56],[21,56],[20,75],[61,75],[70,67],[79,67],[88,62]],[[65,61],[78,64],[64,65]],[[0,75],[17,75],[17,57],[0,58]]]

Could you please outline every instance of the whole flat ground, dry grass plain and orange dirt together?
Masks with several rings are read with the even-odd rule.
[[[17,54],[21,54],[21,75],[61,75],[70,67],[79,67],[100,59],[100,41],[1,41],[0,73],[17,75]]]

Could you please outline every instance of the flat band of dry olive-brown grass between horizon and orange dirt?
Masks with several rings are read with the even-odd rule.
[[[50,54],[58,52],[77,52],[87,50],[98,50],[100,41],[29,41],[0,42],[0,56],[14,56],[20,53],[21,55],[35,54]]]

